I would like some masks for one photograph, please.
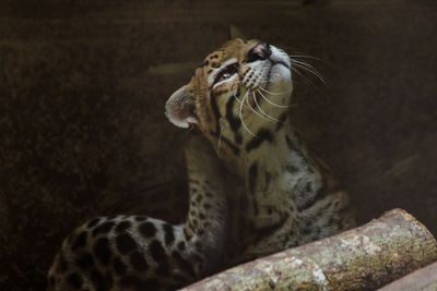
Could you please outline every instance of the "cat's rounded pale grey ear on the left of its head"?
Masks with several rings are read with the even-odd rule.
[[[196,102],[188,85],[180,87],[172,94],[165,104],[165,116],[178,128],[188,129],[191,124],[197,124]]]

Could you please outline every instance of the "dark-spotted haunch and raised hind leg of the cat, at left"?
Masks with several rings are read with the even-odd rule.
[[[201,140],[191,141],[186,156],[186,223],[97,217],[66,239],[49,270],[48,290],[174,290],[220,268],[227,226],[223,171]]]

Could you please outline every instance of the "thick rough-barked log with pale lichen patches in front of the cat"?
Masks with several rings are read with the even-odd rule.
[[[324,240],[231,268],[182,290],[374,290],[437,260],[437,242],[402,209]]]

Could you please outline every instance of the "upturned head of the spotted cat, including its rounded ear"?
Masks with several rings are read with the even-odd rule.
[[[235,157],[272,138],[286,118],[292,90],[285,52],[237,38],[204,59],[167,100],[166,116],[179,128],[198,126],[220,156]]]

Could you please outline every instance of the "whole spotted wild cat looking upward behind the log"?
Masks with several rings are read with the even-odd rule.
[[[170,122],[206,137],[187,150],[186,222],[91,220],[63,242],[49,288],[173,290],[352,227],[346,193],[288,121],[293,69],[258,40],[208,56],[166,104]]]

